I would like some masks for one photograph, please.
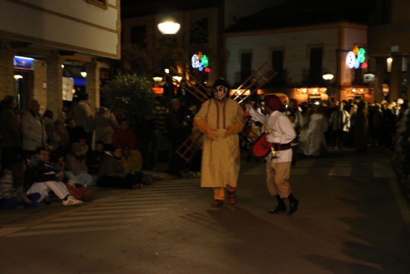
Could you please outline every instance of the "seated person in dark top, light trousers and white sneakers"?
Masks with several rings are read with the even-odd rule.
[[[34,183],[27,190],[27,194],[40,193],[37,202],[41,202],[52,190],[61,199],[63,206],[83,204],[83,201],[75,199],[68,192],[68,189],[62,182],[63,172],[56,173],[55,168],[49,164],[50,156],[48,150],[41,146],[36,149],[35,154],[37,155],[37,160],[30,162]]]

